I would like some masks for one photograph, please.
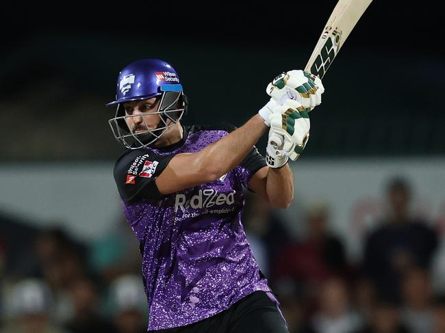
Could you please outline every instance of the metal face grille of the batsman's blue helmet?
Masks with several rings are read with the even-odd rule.
[[[186,107],[186,97],[182,92],[163,92],[157,110],[155,112],[147,112],[150,115],[160,115],[160,123],[155,129],[149,129],[144,115],[126,115],[121,105],[118,105],[114,118],[108,120],[108,124],[110,124],[114,138],[123,144],[125,148],[138,149],[153,144],[171,126],[175,126],[186,112]],[[147,130],[140,131],[132,129],[127,125],[127,120],[135,117],[142,118]]]

